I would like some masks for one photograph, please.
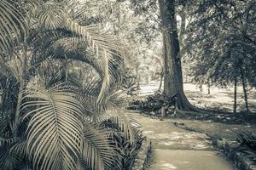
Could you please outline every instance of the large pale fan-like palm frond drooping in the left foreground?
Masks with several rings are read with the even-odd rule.
[[[27,151],[37,169],[75,169],[82,133],[82,107],[63,86],[29,89],[24,107],[31,117],[27,127]]]

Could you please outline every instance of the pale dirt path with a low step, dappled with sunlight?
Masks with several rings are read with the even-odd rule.
[[[214,150],[205,133],[177,127],[172,119],[160,121],[131,112],[143,127],[143,134],[152,141],[150,170],[232,170],[229,161]]]

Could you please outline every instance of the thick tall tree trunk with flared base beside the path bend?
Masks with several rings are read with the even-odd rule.
[[[195,107],[189,103],[183,92],[180,47],[177,37],[174,3],[174,0],[159,0],[160,16],[163,24],[164,94],[169,97],[177,96],[177,109],[195,111]]]

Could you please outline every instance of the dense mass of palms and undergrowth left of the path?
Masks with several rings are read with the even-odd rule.
[[[123,51],[87,7],[0,2],[0,169],[131,168],[143,137],[115,93]]]

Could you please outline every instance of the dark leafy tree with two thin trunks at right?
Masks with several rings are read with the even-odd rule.
[[[241,82],[249,111],[247,84],[253,87],[251,77],[255,77],[255,3],[201,1],[195,7],[187,36],[191,75],[195,81],[207,80],[217,86],[235,84],[235,112],[236,86]]]

